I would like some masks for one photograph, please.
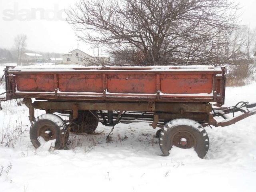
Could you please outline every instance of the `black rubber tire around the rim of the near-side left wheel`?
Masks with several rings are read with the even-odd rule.
[[[51,125],[56,132],[55,149],[63,149],[68,141],[68,129],[66,124],[59,116],[55,114],[42,114],[38,116],[30,126],[30,140],[35,148],[38,148],[41,144],[38,140],[38,129],[45,124]]]

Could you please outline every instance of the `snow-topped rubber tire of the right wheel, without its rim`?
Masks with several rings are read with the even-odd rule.
[[[185,123],[183,123],[185,122]],[[205,129],[196,121],[178,118],[166,123],[159,135],[159,146],[163,156],[168,156],[172,149],[171,138],[177,131],[188,131],[193,134],[196,139],[196,147],[194,150],[200,158],[204,158],[209,149],[209,137]]]

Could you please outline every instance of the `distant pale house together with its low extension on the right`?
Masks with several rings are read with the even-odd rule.
[[[110,62],[108,57],[92,57],[79,49],[64,54],[62,58],[63,64],[100,65]]]

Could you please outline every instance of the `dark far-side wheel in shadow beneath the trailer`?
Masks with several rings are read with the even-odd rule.
[[[88,134],[93,133],[99,124],[99,120],[96,118],[98,114],[95,111],[92,111],[92,113],[90,111],[79,111],[78,120],[73,122],[74,131]]]

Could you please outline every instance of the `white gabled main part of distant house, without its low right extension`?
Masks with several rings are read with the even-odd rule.
[[[90,64],[94,57],[88,55],[87,53],[75,49],[62,56],[63,64]]]

